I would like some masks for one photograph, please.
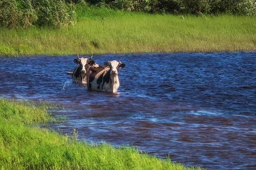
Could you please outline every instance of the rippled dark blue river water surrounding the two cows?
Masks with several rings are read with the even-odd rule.
[[[90,57],[90,56],[81,56]],[[95,55],[120,60],[119,94],[72,83],[76,55],[0,57],[0,97],[60,102],[79,139],[207,169],[256,167],[256,52]]]

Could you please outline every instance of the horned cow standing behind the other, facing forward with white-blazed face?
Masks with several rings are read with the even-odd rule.
[[[87,83],[87,78],[86,78],[86,72],[87,70],[89,70],[90,66],[92,66],[94,64],[96,64],[93,60],[92,60],[92,56],[90,57],[90,59],[87,58],[79,58],[78,54],[76,54],[76,58],[74,59],[74,63],[76,63],[76,68],[72,74],[72,80],[74,83],[82,83],[82,84],[86,84]],[[89,65],[89,62],[91,62],[91,65]]]

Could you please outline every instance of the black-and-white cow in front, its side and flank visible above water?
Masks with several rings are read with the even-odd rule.
[[[118,71],[125,67],[120,61],[108,61],[104,66],[95,64],[87,72],[88,90],[117,93],[119,88]]]

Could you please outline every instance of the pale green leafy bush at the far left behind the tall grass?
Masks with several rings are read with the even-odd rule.
[[[63,27],[75,24],[73,2],[64,0],[0,0],[0,25],[6,28],[31,25]]]

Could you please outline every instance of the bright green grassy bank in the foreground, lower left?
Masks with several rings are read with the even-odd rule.
[[[192,170],[131,147],[76,142],[69,136],[39,128],[50,119],[47,105],[0,99],[0,166],[4,169],[163,169]]]

